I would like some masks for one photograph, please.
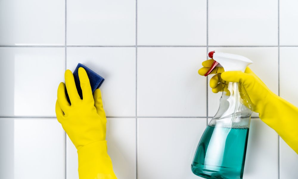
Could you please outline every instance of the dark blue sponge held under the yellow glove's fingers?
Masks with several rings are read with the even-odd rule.
[[[105,81],[105,79],[103,77],[101,77],[100,75],[98,75],[97,73],[95,73],[94,71],[92,71],[91,69],[89,69],[88,67],[86,67],[83,64],[77,64],[77,67],[75,68],[75,71],[73,72],[74,78],[75,78],[75,85],[77,87],[77,92],[79,93],[81,99],[83,99],[83,94],[82,94],[82,89],[80,86],[80,79],[79,79],[79,68],[83,67],[88,75],[89,81],[90,81],[90,85],[91,85],[91,89],[92,89],[92,93],[98,89],[102,84],[103,81]]]

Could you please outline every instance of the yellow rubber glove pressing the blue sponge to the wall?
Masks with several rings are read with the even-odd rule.
[[[66,70],[65,84],[58,87],[56,115],[63,129],[77,148],[80,179],[116,179],[105,141],[106,117],[100,90],[92,95],[86,71],[79,68],[80,98],[72,72]],[[66,98],[66,89],[71,104]]]

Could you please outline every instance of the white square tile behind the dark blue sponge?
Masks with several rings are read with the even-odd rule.
[[[105,78],[100,87],[107,116],[136,115],[136,49],[134,47],[70,47],[67,69],[82,63]]]

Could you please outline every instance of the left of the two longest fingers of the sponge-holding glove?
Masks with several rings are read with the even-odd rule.
[[[75,101],[80,100],[79,93],[77,93],[77,87],[75,86],[75,78],[70,70],[65,71],[65,85],[66,90],[70,99],[70,102],[73,103]]]

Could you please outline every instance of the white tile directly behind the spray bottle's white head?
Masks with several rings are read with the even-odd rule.
[[[218,50],[225,53],[243,55],[254,63],[249,67],[267,85],[278,94],[278,48],[277,47],[209,47],[209,51]],[[209,80],[212,76],[209,76]],[[209,83],[209,81],[208,81]],[[219,107],[221,92],[214,94],[208,84],[209,116],[214,116]],[[258,117],[257,113],[252,116]]]

